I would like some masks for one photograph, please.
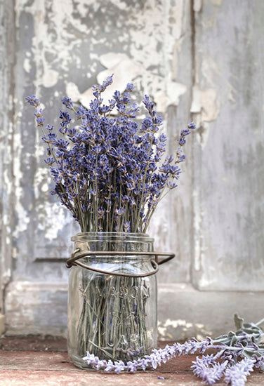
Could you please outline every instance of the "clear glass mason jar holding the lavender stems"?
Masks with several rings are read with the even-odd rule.
[[[70,269],[68,295],[73,363],[88,368],[82,359],[87,351],[112,361],[150,354],[157,345],[153,239],[140,233],[86,232],[72,241],[78,259]]]

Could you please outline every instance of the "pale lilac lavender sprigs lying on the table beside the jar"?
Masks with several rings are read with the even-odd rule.
[[[195,338],[185,342],[183,345],[174,343],[166,345],[164,349],[152,350],[152,354],[141,359],[124,361],[100,361],[98,357],[87,352],[84,361],[96,369],[105,371],[137,371],[145,370],[148,367],[157,368],[161,363],[166,363],[173,357],[180,355],[204,354],[206,350],[216,350],[216,354],[202,355],[193,362],[192,368],[195,375],[206,383],[213,385],[222,376],[226,384],[232,386],[243,386],[246,377],[253,371],[253,368],[260,368],[264,371],[264,333],[260,324],[244,323],[244,319],[235,314],[237,331],[230,331],[227,335],[221,335],[216,339],[206,338],[199,342]]]

